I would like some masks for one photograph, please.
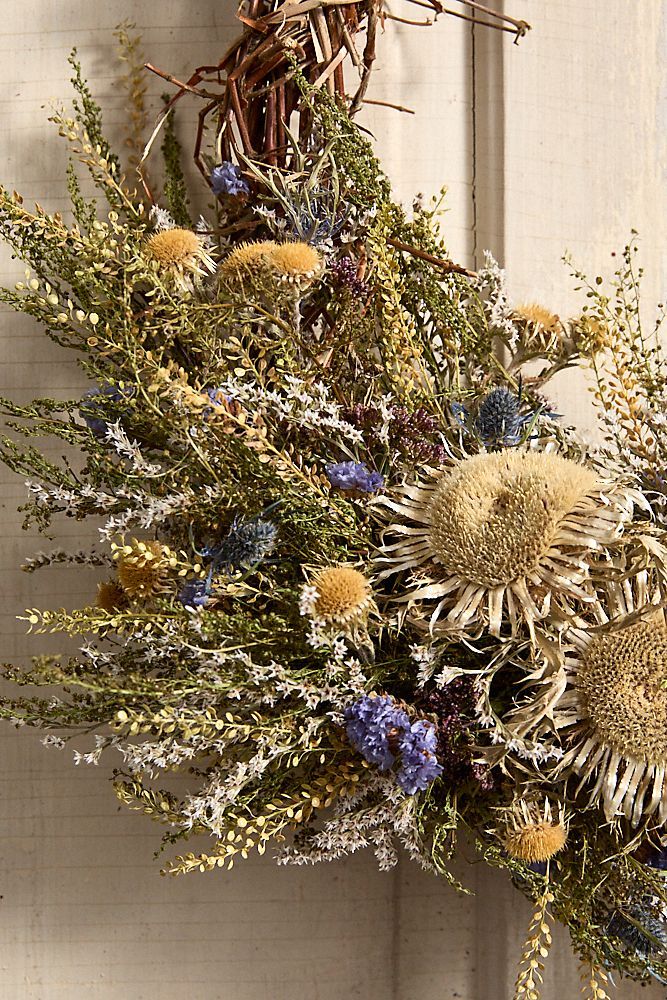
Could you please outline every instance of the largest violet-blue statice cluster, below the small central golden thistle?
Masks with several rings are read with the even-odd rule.
[[[381,771],[396,767],[396,780],[408,795],[427,788],[442,771],[433,724],[411,722],[390,695],[364,695],[345,710],[345,720],[355,750]]]

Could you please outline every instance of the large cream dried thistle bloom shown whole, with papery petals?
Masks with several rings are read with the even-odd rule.
[[[619,537],[631,490],[550,452],[482,453],[429,472],[375,502],[389,522],[379,578],[413,571],[400,600],[417,620],[500,635],[504,617],[532,631],[554,601],[596,602],[587,556]]]

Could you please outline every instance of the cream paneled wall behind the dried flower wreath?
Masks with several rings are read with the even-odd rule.
[[[454,0],[452,0],[454,3]],[[396,13],[419,8],[393,0]],[[473,263],[490,246],[519,298],[573,308],[565,249],[604,268],[634,226],[649,291],[665,261],[662,0],[506,0],[534,30],[507,38],[443,19],[434,29],[389,24],[373,94],[418,111],[373,108],[401,196],[450,189],[452,253]],[[125,17],[151,61],[176,76],[215,61],[233,0],[0,0],[0,179],[27,201],[64,206],[64,154],[45,122],[49,98],[69,98],[72,44],[118,134],[123,105],[111,31]],[[154,94],[161,87],[153,86]],[[474,185],[473,170],[474,163]],[[3,258],[0,280],[14,280]],[[2,316],[0,393],[70,395],[72,359],[33,325]],[[578,388],[562,386],[570,413]],[[0,470],[0,633],[3,659],[47,643],[22,634],[28,604],[82,602],[90,574],[17,571],[39,543],[20,531],[20,482]],[[67,538],[81,528],[67,525]],[[158,830],[117,807],[104,775],[72,767],[34,732],[0,729],[0,1000],[504,1000],[530,911],[480,865],[459,874],[478,892],[456,899],[403,864],[371,857],[314,870],[253,859],[231,874],[161,880]],[[650,991],[660,995],[659,991]],[[576,966],[557,937],[545,1000],[578,995]],[[619,997],[647,997],[625,986]]]

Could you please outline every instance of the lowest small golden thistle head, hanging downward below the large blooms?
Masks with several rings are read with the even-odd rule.
[[[556,812],[548,799],[540,807],[535,802],[520,799],[504,811],[505,827],[501,835],[511,858],[531,864],[549,861],[562,851],[567,842],[565,811]]]

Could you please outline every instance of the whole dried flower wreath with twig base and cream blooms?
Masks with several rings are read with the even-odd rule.
[[[642,326],[634,242],[609,291],[577,275],[588,304],[564,320],[512,306],[490,258],[452,263],[437,204],[392,200],[350,114],[383,16],[249,0],[218,67],[161,73],[178,88],[148,143],[161,205],[145,157],[142,194],[124,180],[73,56],[74,113],[54,121],[106,215],[74,166],[68,223],[3,189],[27,272],[0,298],[76,350],[93,387],[0,401],[1,455],[29,477],[28,525],[102,518],[102,551],[24,568],[101,578],[87,607],[27,612],[84,645],[5,665],[60,694],[5,695],[0,714],[55,747],[90,733],[78,761],[119,755],[117,796],[165,845],[208,835],[175,874],[267,848],[311,864],[371,846],[387,868],[402,846],[457,886],[464,834],[535,903],[515,996],[539,996],[556,920],[599,1000],[614,970],[667,978],[659,323]],[[136,162],[145,95],[119,38]],[[215,197],[196,224],[173,129],[188,93]],[[544,396],[572,366],[594,378],[596,447]]]

